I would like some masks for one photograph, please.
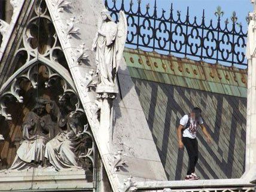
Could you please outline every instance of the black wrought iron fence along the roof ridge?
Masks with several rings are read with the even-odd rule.
[[[105,6],[116,21],[120,10],[126,14],[127,47],[154,50],[161,54],[174,53],[228,66],[244,68],[247,65],[247,27],[243,30],[242,25],[237,23],[235,12],[230,17],[230,23],[228,19],[222,22],[223,11],[218,7],[215,12],[217,23],[214,23],[205,19],[205,10],[200,22],[197,17],[190,19],[188,8],[185,19],[182,19],[181,11],[173,11],[172,4],[168,13],[165,10],[157,13],[156,0],[154,10],[151,10],[150,4],[142,8],[141,0],[136,5],[130,1],[128,6],[124,5],[124,0],[105,0]]]

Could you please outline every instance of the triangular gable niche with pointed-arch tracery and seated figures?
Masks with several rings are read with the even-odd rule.
[[[93,136],[44,1],[36,4],[17,46],[11,63],[17,67],[0,89],[0,115],[14,134],[5,142],[17,143],[15,151],[1,151],[7,172],[83,169],[92,178]],[[78,61],[85,58],[81,53]]]

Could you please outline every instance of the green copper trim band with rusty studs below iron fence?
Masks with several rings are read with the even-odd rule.
[[[148,81],[246,97],[247,70],[126,48],[130,75]]]

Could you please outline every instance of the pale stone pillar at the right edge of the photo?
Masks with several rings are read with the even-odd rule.
[[[256,167],[256,5],[255,0],[251,2],[254,4],[254,12],[249,13],[251,21],[248,27],[246,45],[246,57],[248,59],[246,173],[254,172],[252,169]]]

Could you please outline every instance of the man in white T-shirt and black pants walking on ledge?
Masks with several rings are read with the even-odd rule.
[[[188,153],[188,170],[185,180],[196,180],[200,177],[195,173],[195,166],[198,160],[198,144],[196,139],[197,128],[202,128],[203,134],[206,136],[207,142],[210,144],[212,139],[206,127],[203,124],[201,117],[202,110],[194,107],[190,114],[184,115],[179,121],[177,129],[178,146],[179,148],[186,148]]]

